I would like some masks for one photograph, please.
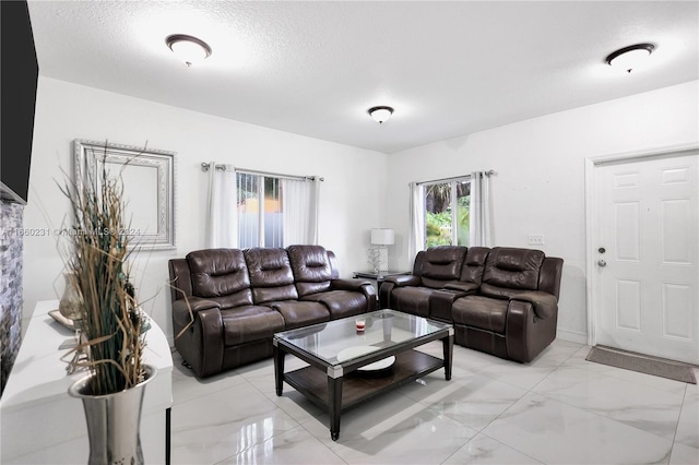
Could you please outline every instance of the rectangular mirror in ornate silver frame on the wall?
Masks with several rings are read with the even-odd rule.
[[[175,152],[109,142],[73,141],[76,186],[102,169],[123,184],[129,243],[135,249],[175,249]]]

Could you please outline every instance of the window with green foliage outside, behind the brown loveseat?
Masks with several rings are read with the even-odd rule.
[[[422,184],[425,248],[469,246],[471,177]]]

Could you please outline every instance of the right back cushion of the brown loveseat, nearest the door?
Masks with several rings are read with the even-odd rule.
[[[524,290],[536,290],[544,258],[541,250],[493,248],[485,262],[481,294],[509,298]]]

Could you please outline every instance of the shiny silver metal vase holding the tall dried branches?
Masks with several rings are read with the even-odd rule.
[[[141,406],[145,384],[157,369],[145,366],[145,380],[133,388],[106,395],[92,395],[90,374],[75,381],[68,394],[83,401],[87,436],[88,465],[143,464],[141,449]]]

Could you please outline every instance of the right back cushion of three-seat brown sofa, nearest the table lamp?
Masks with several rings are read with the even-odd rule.
[[[330,289],[332,267],[323,247],[289,246],[286,251],[300,297]]]

